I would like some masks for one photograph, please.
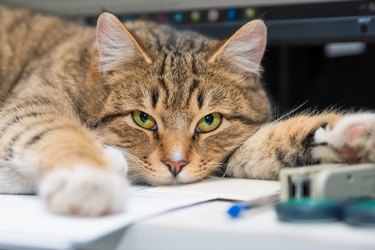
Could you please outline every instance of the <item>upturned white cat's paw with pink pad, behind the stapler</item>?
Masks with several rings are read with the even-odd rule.
[[[334,128],[319,128],[315,132],[315,142],[332,148],[332,154],[341,161],[350,164],[375,162],[375,114],[348,115]],[[328,157],[329,152],[325,153]]]

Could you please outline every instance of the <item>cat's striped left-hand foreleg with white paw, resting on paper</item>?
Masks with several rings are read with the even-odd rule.
[[[63,214],[96,216],[122,209],[127,184],[118,168],[126,166],[125,159],[113,148],[102,149],[68,101],[20,98],[0,115],[0,158],[7,163],[0,175],[13,178],[13,183],[0,182],[0,191],[28,193],[36,187],[47,206]],[[35,180],[27,172],[36,173]],[[27,184],[22,180],[30,182],[29,190],[22,190]],[[1,190],[5,184],[8,190]]]

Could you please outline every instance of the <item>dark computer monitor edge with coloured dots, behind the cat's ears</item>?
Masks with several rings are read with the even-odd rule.
[[[348,0],[0,0],[95,23],[103,10],[122,20],[147,19],[224,38],[261,18],[271,43],[372,41],[375,2]]]

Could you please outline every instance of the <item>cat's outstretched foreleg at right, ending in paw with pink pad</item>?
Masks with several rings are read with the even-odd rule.
[[[233,153],[228,175],[277,179],[280,169],[375,162],[375,114],[299,115],[270,123]]]

